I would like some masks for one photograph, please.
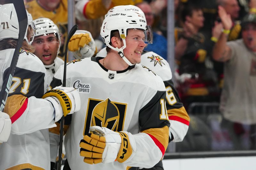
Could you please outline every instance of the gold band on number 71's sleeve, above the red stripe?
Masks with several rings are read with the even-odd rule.
[[[9,96],[4,107],[4,112],[7,113],[10,118],[17,113],[17,111],[22,107],[27,97],[21,94],[14,94]]]

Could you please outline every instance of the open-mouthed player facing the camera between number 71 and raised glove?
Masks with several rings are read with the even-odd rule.
[[[46,69],[46,88],[50,90],[50,83],[55,72],[64,64],[58,57],[60,52],[59,28],[49,18],[39,18],[33,21],[36,35],[32,45],[36,48],[34,54],[44,63]]]

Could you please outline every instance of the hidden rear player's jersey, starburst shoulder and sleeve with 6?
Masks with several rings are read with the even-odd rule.
[[[106,48],[103,48],[96,56],[106,57],[106,55]],[[173,85],[169,63],[152,51],[144,51],[140,64],[148,67],[163,79],[166,88],[167,113],[171,123],[169,136],[172,142],[181,142],[188,132],[190,118]]]

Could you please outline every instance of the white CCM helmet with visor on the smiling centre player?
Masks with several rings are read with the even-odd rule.
[[[100,35],[106,46],[116,50],[128,65],[134,65],[129,62],[123,52],[124,48],[126,48],[125,37],[127,36],[128,29],[143,30],[145,35],[145,39],[143,41],[146,44],[153,43],[153,31],[151,26],[148,26],[146,24],[146,19],[136,12],[117,11],[111,13],[103,20]],[[123,40],[124,46],[121,48],[114,48],[109,44],[112,38],[111,33],[115,30],[119,32],[120,37]]]

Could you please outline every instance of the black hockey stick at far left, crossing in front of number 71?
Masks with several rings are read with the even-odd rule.
[[[23,40],[25,33],[27,31],[27,26],[28,26],[28,17],[27,17],[27,12],[25,9],[24,1],[23,0],[10,0],[10,3],[13,3],[15,11],[17,13],[18,17],[18,22],[19,22],[19,38],[17,40],[17,45],[14,50],[13,56],[12,56],[12,62],[9,67],[7,77],[8,80],[4,81],[1,89],[1,95],[0,95],[0,111],[4,110],[4,106],[6,104],[6,100],[8,97],[8,93],[10,90],[10,87],[12,85],[12,77],[14,75],[15,67],[17,65],[19,55],[20,55],[20,48],[22,46]]]

